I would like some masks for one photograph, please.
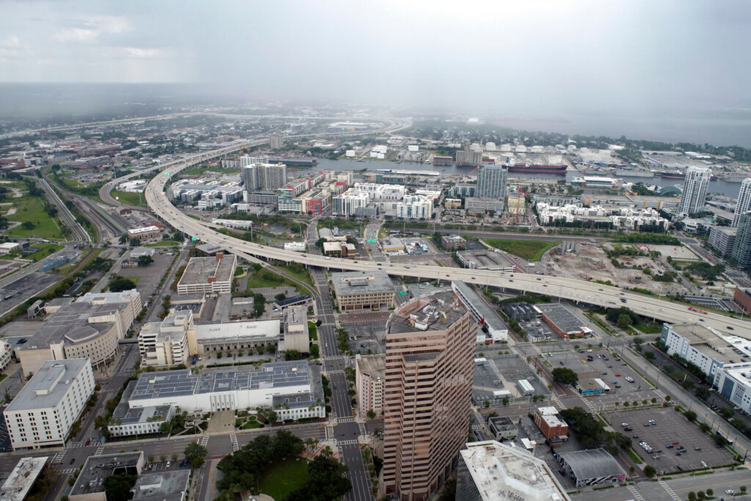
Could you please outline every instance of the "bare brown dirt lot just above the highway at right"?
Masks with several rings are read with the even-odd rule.
[[[545,273],[550,272],[556,276],[566,276],[572,279],[610,280],[621,287],[648,288],[650,291],[662,294],[665,294],[668,291],[688,293],[688,291],[684,291],[683,287],[680,287],[680,285],[677,285],[675,282],[655,282],[653,279],[650,279],[649,276],[645,275],[641,271],[641,268],[649,266],[655,271],[664,268],[662,263],[654,261],[652,258],[642,256],[620,256],[618,261],[626,266],[630,267],[637,265],[640,267],[637,270],[632,270],[631,268],[614,267],[610,258],[608,258],[608,255],[606,255],[602,247],[598,245],[590,244],[587,246],[579,246],[578,254],[574,252],[566,252],[561,255],[559,249],[560,248],[551,249],[550,252],[547,252],[544,258],[542,258]]]

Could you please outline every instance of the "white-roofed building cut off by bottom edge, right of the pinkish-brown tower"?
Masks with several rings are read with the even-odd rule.
[[[543,459],[494,440],[460,451],[457,501],[571,501]]]

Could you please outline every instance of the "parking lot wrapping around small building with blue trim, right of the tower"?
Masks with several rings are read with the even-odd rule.
[[[588,352],[586,349],[583,351],[584,353],[552,353],[552,357],[546,356],[545,359],[551,364],[550,370],[556,367],[569,367],[578,374],[580,380],[599,378],[610,387],[610,391],[604,394],[586,397],[587,402],[589,402],[588,406],[591,404],[591,406],[599,409],[613,409],[616,402],[623,405],[623,402],[637,401],[639,405],[642,405],[644,399],[648,403],[652,403],[653,398],[662,402],[662,395],[653,391],[652,385],[644,381],[635,370],[623,361],[618,360],[616,355],[605,349],[593,349],[592,352]],[[588,361],[587,356],[590,356],[593,360]],[[607,359],[604,357],[607,357]],[[626,378],[632,379],[633,382],[629,382]]]

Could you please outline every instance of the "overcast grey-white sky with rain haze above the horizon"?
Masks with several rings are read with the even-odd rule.
[[[8,2],[0,81],[467,109],[751,108],[751,3]]]

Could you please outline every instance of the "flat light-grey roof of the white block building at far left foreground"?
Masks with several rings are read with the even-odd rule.
[[[86,367],[91,370],[88,358],[44,362],[26,386],[21,388],[5,412],[56,406],[65,395],[65,391],[68,391],[70,382],[83,373]]]

